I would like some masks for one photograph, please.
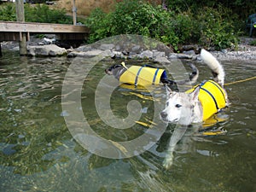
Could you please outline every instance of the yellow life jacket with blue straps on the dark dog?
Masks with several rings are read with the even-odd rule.
[[[160,77],[164,72],[165,70],[160,68],[131,66],[120,76],[119,82],[136,86],[160,84]]]

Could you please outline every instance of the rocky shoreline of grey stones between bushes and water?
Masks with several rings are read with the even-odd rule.
[[[256,46],[249,45],[253,38],[241,38],[241,43],[238,46],[238,50],[223,49],[221,51],[211,51],[212,55],[216,56],[219,61],[232,61],[232,60],[247,60],[256,61]],[[144,44],[127,44],[125,41],[117,41],[117,44],[99,42],[96,44],[85,44],[79,46],[77,49],[65,49],[57,46],[56,44],[50,44],[45,39],[32,38],[30,42],[27,42],[27,51],[30,56],[68,56],[68,57],[91,57],[96,55],[102,55],[111,58],[130,58],[130,59],[153,59],[159,62],[169,62],[173,59],[186,59],[197,60],[199,48],[197,45],[184,46],[182,53],[174,53],[172,49],[159,45],[160,49],[153,49]],[[17,42],[2,42],[2,49],[8,49],[13,51],[19,50],[19,44]]]

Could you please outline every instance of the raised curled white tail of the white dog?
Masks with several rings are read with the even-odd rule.
[[[212,70],[212,74],[214,78],[216,78],[215,80],[218,82],[218,84],[223,86],[225,73],[224,68],[218,62],[218,60],[206,49],[201,49],[201,59]]]

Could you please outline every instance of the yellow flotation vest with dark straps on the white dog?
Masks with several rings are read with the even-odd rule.
[[[206,121],[214,113],[218,113],[221,108],[226,107],[227,96],[225,90],[212,80],[195,85],[194,88],[187,90],[186,92],[191,93],[198,86],[200,86],[198,98],[203,108],[203,121]]]

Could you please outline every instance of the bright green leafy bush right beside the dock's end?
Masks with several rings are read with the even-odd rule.
[[[155,36],[159,25],[161,9],[155,9],[149,3],[137,0],[125,0],[116,3],[113,12],[105,14],[102,9],[95,9],[85,21],[90,27],[90,40],[96,41],[119,34],[141,34]]]

